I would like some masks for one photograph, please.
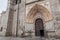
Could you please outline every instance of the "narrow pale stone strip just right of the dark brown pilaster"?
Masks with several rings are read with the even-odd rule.
[[[16,36],[16,27],[17,27],[17,5],[14,7],[14,15],[13,15],[13,27],[12,27],[12,35]]]

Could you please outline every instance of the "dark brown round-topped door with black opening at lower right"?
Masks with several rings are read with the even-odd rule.
[[[35,20],[35,36],[44,37],[44,25],[41,18]]]

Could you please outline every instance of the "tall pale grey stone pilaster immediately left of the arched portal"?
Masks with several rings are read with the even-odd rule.
[[[19,4],[19,25],[18,25],[19,36],[24,31],[25,17],[26,17],[25,0],[21,0],[21,3]]]

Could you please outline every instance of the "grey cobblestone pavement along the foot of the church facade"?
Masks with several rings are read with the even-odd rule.
[[[60,40],[56,38],[40,38],[40,37],[26,37],[26,38],[20,38],[20,37],[0,37],[0,40]]]

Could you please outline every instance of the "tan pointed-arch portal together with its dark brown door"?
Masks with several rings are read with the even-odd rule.
[[[38,15],[41,17],[38,17]],[[37,17],[36,17],[37,16]],[[35,24],[35,35],[36,36],[46,36],[46,30],[44,30],[45,22],[52,20],[53,17],[49,10],[42,5],[35,4],[27,14],[27,23]]]

